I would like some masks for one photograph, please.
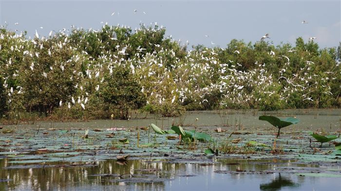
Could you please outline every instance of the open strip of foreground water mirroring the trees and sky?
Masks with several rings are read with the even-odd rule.
[[[340,178],[301,177],[296,174],[218,174],[215,171],[265,171],[274,168],[300,168],[312,165],[290,161],[212,159],[214,165],[173,163],[168,160],[116,160],[96,162],[95,165],[70,166],[70,163],[51,163],[54,167],[13,167],[10,159],[0,159],[1,190],[340,190]],[[230,165],[231,163],[238,163]],[[68,166],[67,166],[68,165]],[[7,180],[10,179],[10,180]],[[321,186],[321,185],[327,185]],[[329,186],[329,187],[328,187]]]

